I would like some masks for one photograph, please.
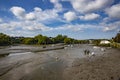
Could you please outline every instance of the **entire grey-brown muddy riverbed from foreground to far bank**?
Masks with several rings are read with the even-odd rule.
[[[50,47],[50,46],[49,46]],[[0,53],[0,80],[120,80],[120,50],[74,45],[65,49],[32,52],[42,47],[10,46]],[[89,49],[95,56],[84,55]]]

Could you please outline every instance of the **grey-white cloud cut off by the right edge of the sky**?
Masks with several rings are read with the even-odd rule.
[[[109,17],[120,19],[120,4],[113,5],[105,11]]]

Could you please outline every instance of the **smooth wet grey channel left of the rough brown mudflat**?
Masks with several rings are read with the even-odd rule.
[[[77,58],[84,58],[84,50],[89,49],[101,54],[99,48],[91,45],[74,45],[66,49],[31,52],[38,46],[10,46],[0,49],[9,52],[0,58],[0,80],[62,80],[63,72]]]

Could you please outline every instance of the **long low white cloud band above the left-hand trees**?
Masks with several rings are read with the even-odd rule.
[[[49,31],[51,30],[50,27],[45,26],[42,23],[36,21],[10,21],[8,23],[1,23],[0,30],[3,31]]]

